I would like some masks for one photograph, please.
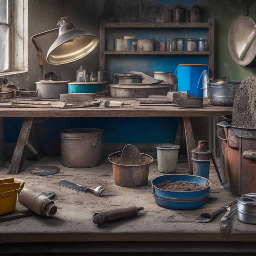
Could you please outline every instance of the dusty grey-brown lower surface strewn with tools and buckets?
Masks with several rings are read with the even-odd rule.
[[[32,168],[40,165],[57,166],[60,172],[48,176],[30,173]],[[176,173],[189,174],[187,161],[180,160]],[[82,169],[62,166],[60,157],[44,157],[40,161],[27,160],[25,169],[14,177],[23,179],[26,187],[38,192],[54,191],[56,195],[52,200],[58,210],[51,218],[32,215],[0,223],[0,242],[4,245],[1,245],[1,248],[15,252],[15,246],[22,243],[39,243],[37,246],[42,252],[47,252],[47,247],[41,242],[50,242],[58,252],[63,252],[63,248],[72,244],[74,252],[79,252],[81,248],[83,251],[80,252],[95,252],[95,248],[101,247],[103,249],[98,251],[120,252],[120,248],[125,247],[137,252],[185,252],[186,247],[190,248],[189,252],[203,252],[209,248],[212,248],[213,252],[232,252],[237,249],[238,242],[243,242],[240,252],[255,252],[256,247],[252,246],[254,243],[250,243],[256,239],[255,226],[240,222],[237,215],[231,221],[232,227],[228,235],[220,232],[221,216],[209,223],[196,221],[200,213],[213,211],[240,197],[223,189],[212,164],[209,176],[210,196],[204,206],[195,210],[172,210],[158,206],[152,194],[151,180],[160,175],[164,173],[158,172],[157,161],[154,160],[150,165],[148,184],[128,188],[114,184],[112,165],[107,159],[100,166]],[[5,163],[1,167],[0,178],[10,176],[13,175],[8,174],[8,163]],[[106,190],[100,197],[89,192],[81,193],[58,185],[62,179],[91,188],[101,185]],[[132,206],[144,207],[144,210],[139,211],[135,217],[105,223],[102,226],[93,223],[95,212]],[[15,211],[22,209],[24,207],[17,202]],[[128,245],[123,244],[124,242]],[[220,245],[216,245],[218,242]],[[15,243],[15,246],[7,249],[10,243]],[[77,248],[77,243],[80,244],[80,249]],[[114,249],[114,244],[120,248]],[[195,248],[196,246],[200,249]]]

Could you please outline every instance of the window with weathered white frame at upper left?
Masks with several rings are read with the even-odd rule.
[[[28,0],[0,1],[0,75],[28,69]]]

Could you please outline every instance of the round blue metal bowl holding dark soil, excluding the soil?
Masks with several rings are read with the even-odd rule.
[[[189,181],[206,185],[206,188],[199,191],[168,191],[157,188],[157,185],[166,181]],[[176,210],[197,209],[203,206],[209,196],[211,183],[208,179],[186,174],[162,175],[152,180],[152,191],[157,205]]]

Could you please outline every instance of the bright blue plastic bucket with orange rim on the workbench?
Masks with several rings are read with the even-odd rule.
[[[199,80],[204,70],[209,72],[207,64],[179,64],[174,72],[178,79],[178,91],[189,91],[189,96],[203,97],[203,90],[198,84],[201,84]]]

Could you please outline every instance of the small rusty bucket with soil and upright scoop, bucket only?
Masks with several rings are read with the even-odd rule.
[[[149,165],[153,162],[150,155],[143,154],[149,158],[148,163],[142,165],[122,165],[113,162],[114,156],[121,157],[122,151],[109,155],[108,160],[112,163],[114,183],[121,187],[141,187],[148,183]]]

